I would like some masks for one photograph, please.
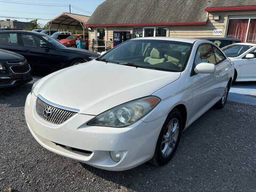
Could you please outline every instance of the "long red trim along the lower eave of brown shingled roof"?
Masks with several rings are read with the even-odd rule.
[[[206,22],[174,22],[174,23],[131,23],[131,24],[103,24],[84,25],[85,27],[127,27],[127,26],[174,26],[174,25],[206,25]]]

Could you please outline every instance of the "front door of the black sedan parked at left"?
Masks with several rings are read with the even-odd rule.
[[[47,46],[47,43],[41,38],[30,34],[21,34],[21,41],[22,55],[30,63],[31,69],[34,72],[47,70],[51,59],[49,55],[50,49],[41,47],[41,44]]]

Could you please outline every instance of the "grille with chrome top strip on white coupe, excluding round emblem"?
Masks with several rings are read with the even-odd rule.
[[[37,97],[36,99],[36,113],[39,117],[43,118],[45,121],[53,123],[53,124],[61,124],[67,121],[70,117],[74,116],[79,110],[73,109],[73,108],[67,108],[67,107],[56,107],[51,105],[48,102],[45,102],[46,99],[43,98],[41,95]],[[47,101],[47,100],[46,100]],[[52,111],[51,115],[49,117],[45,116],[44,111],[45,109],[50,109]],[[67,109],[73,109],[73,111],[67,110]],[[75,111],[74,111],[75,110]]]

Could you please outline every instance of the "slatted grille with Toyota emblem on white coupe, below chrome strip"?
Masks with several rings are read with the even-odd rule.
[[[54,124],[64,123],[76,114],[73,111],[53,107],[39,98],[36,100],[36,113],[45,121]]]

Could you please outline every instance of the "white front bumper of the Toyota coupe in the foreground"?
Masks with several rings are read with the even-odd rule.
[[[29,93],[25,117],[37,142],[59,155],[111,171],[132,169],[152,158],[165,121],[165,117],[150,123],[138,121],[124,128],[89,126],[86,123],[94,116],[78,113],[55,125],[37,115],[35,101]],[[110,151],[120,151],[121,161],[114,162]]]

